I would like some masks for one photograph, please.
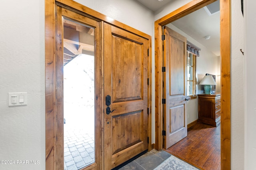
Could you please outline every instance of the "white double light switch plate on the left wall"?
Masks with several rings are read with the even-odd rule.
[[[8,93],[8,94],[9,94],[9,106],[27,105],[27,92]]]

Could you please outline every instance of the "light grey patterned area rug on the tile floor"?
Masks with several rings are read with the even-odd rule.
[[[162,164],[158,165],[154,170],[198,170],[194,166],[171,155]]]

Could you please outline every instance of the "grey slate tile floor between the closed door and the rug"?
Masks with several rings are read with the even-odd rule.
[[[153,149],[126,164],[122,168],[119,168],[119,170],[154,170],[154,168],[156,168],[170,156],[171,154],[164,150],[157,151]]]

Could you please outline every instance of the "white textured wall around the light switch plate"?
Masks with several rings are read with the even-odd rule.
[[[15,161],[0,169],[44,170],[44,1],[2,0],[0,16],[0,160]],[[8,107],[8,92],[27,92],[28,105]]]

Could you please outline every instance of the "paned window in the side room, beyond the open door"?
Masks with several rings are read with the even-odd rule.
[[[187,96],[189,99],[196,98],[196,55],[187,53]]]

